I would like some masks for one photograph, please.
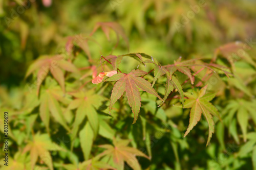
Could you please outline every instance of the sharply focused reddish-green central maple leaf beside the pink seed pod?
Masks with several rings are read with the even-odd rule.
[[[143,91],[154,94],[155,96],[157,96],[158,99],[163,101],[162,98],[157,94],[155,89],[151,87],[150,82],[139,77],[145,74],[147,74],[147,72],[136,69],[132,70],[129,74],[118,73],[112,76],[111,78],[105,80],[117,81],[114,85],[114,88],[112,89],[109,111],[111,111],[115,102],[123,95],[125,91],[129,105],[131,106],[132,111],[134,113],[134,124],[138,119],[141,106],[140,92],[137,87],[139,87]]]

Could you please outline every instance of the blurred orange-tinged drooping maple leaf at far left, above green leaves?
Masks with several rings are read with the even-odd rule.
[[[78,72],[78,70],[72,63],[64,60],[63,58],[64,57],[62,55],[56,55],[53,57],[41,56],[33,64],[29,66],[25,78],[31,75],[33,71],[38,69],[37,95],[39,94],[40,85],[42,81],[44,81],[45,78],[47,77],[49,70],[52,76],[54,77],[54,79],[56,79],[57,82],[59,83],[63,92],[65,92],[65,78],[61,68],[71,72]]]

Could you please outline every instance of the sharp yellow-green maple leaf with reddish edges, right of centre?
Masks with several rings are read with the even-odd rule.
[[[206,143],[206,145],[208,145],[212,133],[214,133],[214,120],[212,119],[211,114],[219,117],[219,119],[221,119],[221,117],[216,107],[209,102],[214,98],[215,94],[205,94],[206,88],[207,85],[201,88],[200,91],[195,91],[193,94],[189,92],[184,93],[188,98],[184,103],[184,108],[191,108],[189,125],[184,137],[197,125],[201,119],[201,114],[203,113],[209,125],[208,140]]]

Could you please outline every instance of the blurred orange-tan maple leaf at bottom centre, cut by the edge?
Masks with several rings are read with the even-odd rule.
[[[99,145],[100,148],[106,149],[103,153],[97,157],[109,157],[113,159],[117,169],[124,168],[124,161],[129,164],[133,169],[141,169],[136,156],[145,157],[150,159],[147,155],[137,150],[136,148],[127,147],[131,140],[119,140],[113,139],[113,145],[103,144]]]

